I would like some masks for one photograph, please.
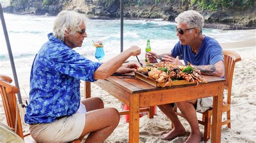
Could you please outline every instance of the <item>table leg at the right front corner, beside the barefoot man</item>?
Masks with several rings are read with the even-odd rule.
[[[220,142],[224,83],[219,83],[218,96],[213,97],[211,142]]]

